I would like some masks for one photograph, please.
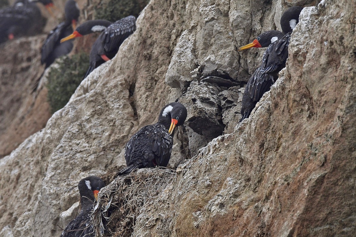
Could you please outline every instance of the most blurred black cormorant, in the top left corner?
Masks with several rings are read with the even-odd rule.
[[[53,6],[52,0],[18,0],[14,5],[0,10],[0,43],[42,31],[44,21],[35,2],[41,2],[48,11]]]

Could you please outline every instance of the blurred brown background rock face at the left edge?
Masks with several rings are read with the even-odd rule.
[[[21,37],[0,45],[0,158],[42,129],[51,114],[47,89],[35,91],[43,72],[44,35]]]

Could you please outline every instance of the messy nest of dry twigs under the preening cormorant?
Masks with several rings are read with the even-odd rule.
[[[92,214],[96,237],[131,236],[141,207],[157,196],[174,174],[163,167],[138,169],[101,189]]]

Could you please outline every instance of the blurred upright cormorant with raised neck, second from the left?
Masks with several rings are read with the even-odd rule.
[[[69,36],[75,29],[79,18],[79,7],[74,0],[68,0],[64,6],[66,21],[57,25],[49,32],[42,45],[41,63],[46,63],[46,68],[51,65],[56,58],[68,54],[73,48],[72,41],[60,43],[63,37]],[[73,28],[72,28],[73,27]]]

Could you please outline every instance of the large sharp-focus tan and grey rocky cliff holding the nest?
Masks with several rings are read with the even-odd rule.
[[[59,236],[79,180],[99,175],[112,181],[102,206],[133,214],[109,236],[355,236],[355,2],[309,2],[286,69],[237,124],[263,51],[236,48],[307,2],[151,0],[116,57],[0,160],[0,233]],[[130,136],[176,100],[189,113],[174,137],[182,164],[115,178]]]

